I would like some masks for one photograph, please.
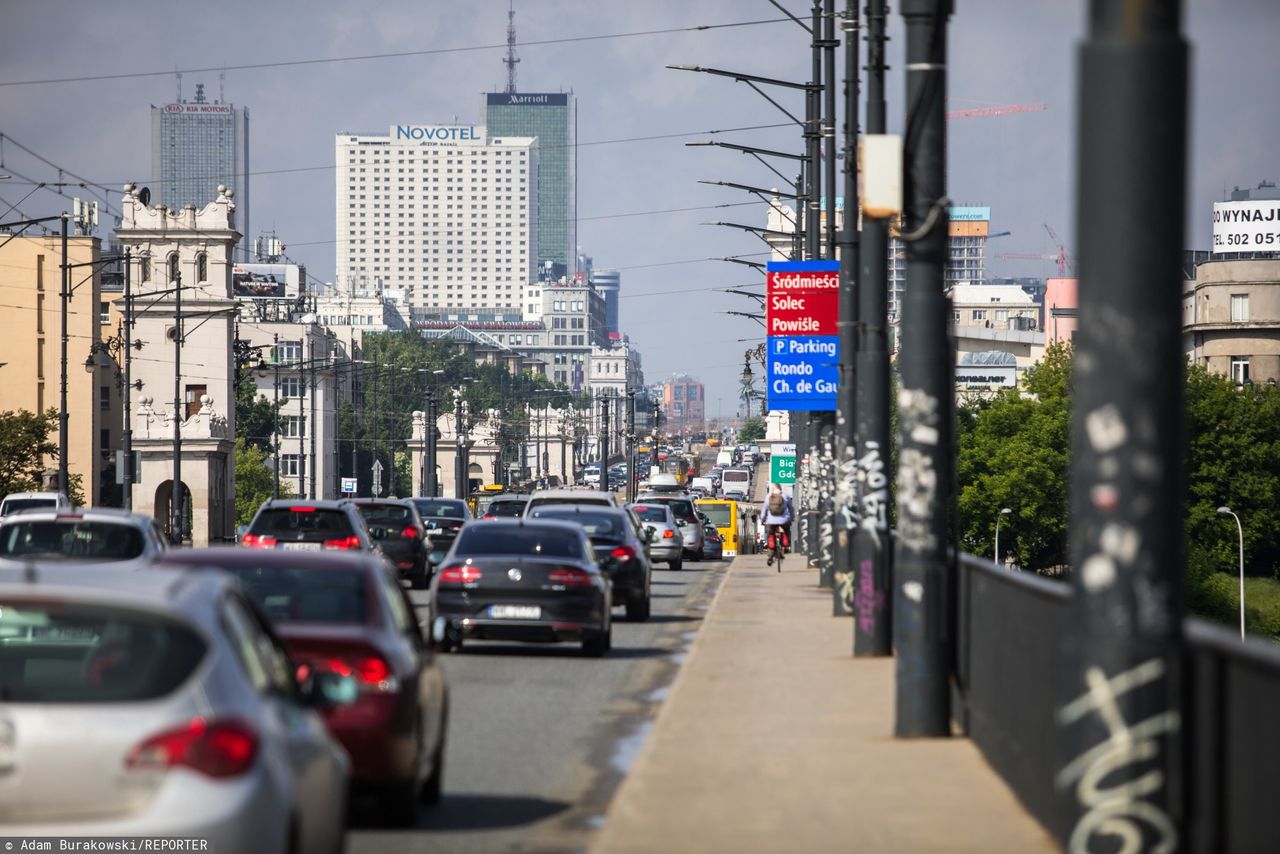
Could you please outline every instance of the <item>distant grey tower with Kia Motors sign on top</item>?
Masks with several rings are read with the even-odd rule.
[[[169,210],[202,209],[218,200],[219,184],[230,188],[236,229],[248,236],[248,109],[206,100],[204,83],[193,101],[152,106],[151,174],[151,201]],[[250,260],[247,237],[236,260]]]

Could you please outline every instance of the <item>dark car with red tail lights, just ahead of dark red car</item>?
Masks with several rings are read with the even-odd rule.
[[[379,551],[365,517],[349,499],[264,501],[241,536],[246,548],[294,551]]]

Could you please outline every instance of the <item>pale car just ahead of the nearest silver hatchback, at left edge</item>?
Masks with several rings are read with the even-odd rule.
[[[124,510],[24,510],[0,520],[0,561],[132,568],[155,561],[166,548],[154,519]]]

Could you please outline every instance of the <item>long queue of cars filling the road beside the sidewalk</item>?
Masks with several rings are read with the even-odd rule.
[[[210,548],[6,497],[0,836],[337,851],[353,816],[419,826],[449,805],[462,662],[626,656],[614,622],[654,617],[667,579],[756,548],[760,449],[716,446],[646,446],[576,488],[269,499]]]

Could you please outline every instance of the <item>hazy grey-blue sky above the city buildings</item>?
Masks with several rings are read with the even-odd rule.
[[[808,14],[801,0],[782,3]],[[905,40],[896,6],[887,54],[891,132],[901,131],[904,111]],[[1233,187],[1280,178],[1280,3],[1185,0],[1184,6],[1192,45],[1187,246],[1208,248],[1213,201]],[[664,67],[804,81],[808,35],[765,0],[515,0],[515,8],[520,42],[582,38],[517,47],[517,85],[526,92],[577,95],[579,243],[596,268],[622,270],[621,325],[643,353],[646,380],[691,373],[707,383],[708,415],[732,415],[742,353],[763,332],[748,318],[724,314],[754,311],[754,301],[717,288],[759,289],[763,275],[703,259],[764,246],[746,232],[701,223],[763,225],[765,207],[745,204],[753,197],[741,191],[698,181],[759,187],[781,181],[746,155],[685,142],[719,138],[799,152],[799,128],[741,83]],[[334,136],[385,133],[401,123],[483,122],[481,93],[506,83],[507,9],[507,0],[6,3],[0,174],[59,181],[54,166],[17,142],[111,187],[118,207],[120,184],[150,178],[148,106],[174,100],[173,72],[227,68],[225,100],[250,110],[250,237],[275,232],[289,257],[328,282],[334,271]],[[1076,56],[1085,15],[1084,0],[956,0],[948,109],[1044,104],[1043,111],[948,123],[948,195],[957,204],[989,205],[992,232],[1011,232],[988,247],[991,275],[1053,274],[1050,261],[995,257],[1056,252],[1046,224],[1073,252]],[[595,38],[762,20],[773,23]],[[468,50],[232,68],[439,49]],[[159,74],[108,78],[143,72]],[[19,85],[65,77],[93,79]],[[188,70],[186,97],[198,82],[216,97],[216,70]],[[803,109],[797,92],[771,95],[795,113]],[[708,133],[772,124],[783,127]],[[682,136],[640,138],[667,134]],[[0,179],[0,210],[15,205],[42,216],[68,204],[18,175]],[[676,210],[714,205],[736,206]],[[620,216],[644,211],[664,213]]]

